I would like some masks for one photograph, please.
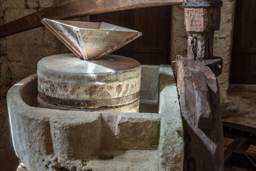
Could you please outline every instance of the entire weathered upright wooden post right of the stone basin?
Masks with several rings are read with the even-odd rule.
[[[222,59],[213,57],[213,36],[220,27],[222,2],[189,0],[182,5],[188,53],[178,55],[173,63],[184,126],[183,170],[223,171],[223,131],[216,79],[222,71]]]

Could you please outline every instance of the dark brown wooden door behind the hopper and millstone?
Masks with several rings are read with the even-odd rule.
[[[112,54],[141,64],[170,64],[171,6],[117,11],[91,16],[92,22],[107,22],[142,32],[142,36]]]

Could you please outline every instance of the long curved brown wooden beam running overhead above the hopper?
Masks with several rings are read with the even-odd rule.
[[[0,38],[43,26],[41,19],[68,20],[86,15],[163,6],[183,0],[70,0],[0,26]]]

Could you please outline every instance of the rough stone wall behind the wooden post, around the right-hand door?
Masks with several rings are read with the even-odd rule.
[[[234,92],[229,89],[231,39],[235,0],[223,0],[220,30],[214,34],[214,56],[223,59],[223,71],[218,77],[221,94],[222,118],[225,121],[256,127],[256,93]],[[172,56],[186,54],[187,33],[184,28],[184,10],[173,5]]]

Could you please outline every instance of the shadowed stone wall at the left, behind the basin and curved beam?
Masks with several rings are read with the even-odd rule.
[[[60,0],[0,0],[0,25],[59,3]],[[45,27],[0,39],[0,170],[13,171],[19,164],[13,149],[6,93],[33,74],[37,62],[68,49]]]

